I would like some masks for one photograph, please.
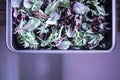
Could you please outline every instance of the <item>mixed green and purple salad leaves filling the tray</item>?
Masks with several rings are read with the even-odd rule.
[[[105,0],[11,0],[13,35],[29,49],[105,49]]]

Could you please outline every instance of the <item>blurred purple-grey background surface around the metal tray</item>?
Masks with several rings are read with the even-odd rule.
[[[17,54],[6,46],[5,0],[0,0],[0,80],[120,80],[120,0],[116,47],[100,54]]]

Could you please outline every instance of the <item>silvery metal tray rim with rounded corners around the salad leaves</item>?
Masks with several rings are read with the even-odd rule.
[[[16,53],[102,53],[111,52],[115,47],[115,36],[116,36],[116,0],[112,0],[112,4],[109,4],[107,8],[111,7],[111,25],[112,25],[112,46],[107,50],[31,50],[31,49],[16,49],[13,45],[13,29],[12,29],[12,0],[6,0],[6,44],[9,50]],[[108,0],[109,1],[109,0]],[[19,45],[18,45],[19,46]]]

